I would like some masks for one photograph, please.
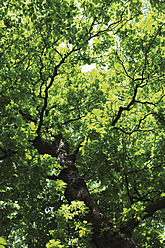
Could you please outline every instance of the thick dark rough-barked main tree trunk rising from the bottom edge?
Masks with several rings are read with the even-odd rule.
[[[62,135],[56,136],[55,142],[50,144],[43,141],[39,136],[33,141],[34,147],[40,154],[50,154],[57,158],[57,161],[64,168],[58,178],[67,183],[65,197],[68,202],[73,200],[84,201],[89,207],[86,220],[92,223],[92,242],[97,248],[135,248],[136,245],[130,238],[112,231],[112,224],[99,209],[96,202],[91,197],[87,185],[79,176],[75,166],[76,155],[69,154],[69,145]],[[103,231],[104,230],[104,231]]]

